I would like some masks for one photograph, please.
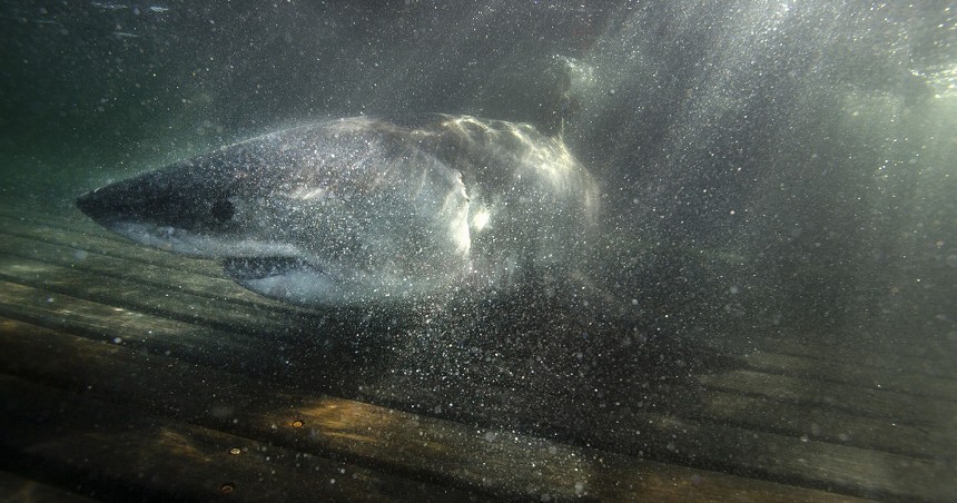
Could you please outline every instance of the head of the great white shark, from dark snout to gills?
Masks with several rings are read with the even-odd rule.
[[[255,138],[76,204],[134,241],[217,259],[243,286],[298,304],[428,299],[470,272],[458,171],[368,121]]]

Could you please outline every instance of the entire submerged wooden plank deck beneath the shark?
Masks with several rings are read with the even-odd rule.
[[[957,499],[946,347],[599,354],[521,325],[343,320],[79,215],[0,213],[0,499]]]

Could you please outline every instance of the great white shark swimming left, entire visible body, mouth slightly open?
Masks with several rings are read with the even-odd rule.
[[[134,241],[217,259],[262,295],[357,306],[562,286],[593,247],[598,193],[558,137],[427,115],[280,130],[77,206]]]

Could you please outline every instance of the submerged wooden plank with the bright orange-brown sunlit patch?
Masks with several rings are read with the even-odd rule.
[[[39,327],[0,324],[0,368],[152,414],[496,496],[683,501],[850,497],[310,396]],[[13,356],[16,355],[16,356]],[[118,379],[116,376],[136,376]],[[141,383],[149,383],[144,388]],[[923,466],[921,466],[923,467]]]

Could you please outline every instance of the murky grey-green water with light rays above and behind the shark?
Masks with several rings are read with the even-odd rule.
[[[957,345],[951,2],[0,8],[4,208],[328,117],[531,121],[600,180],[643,331]]]

